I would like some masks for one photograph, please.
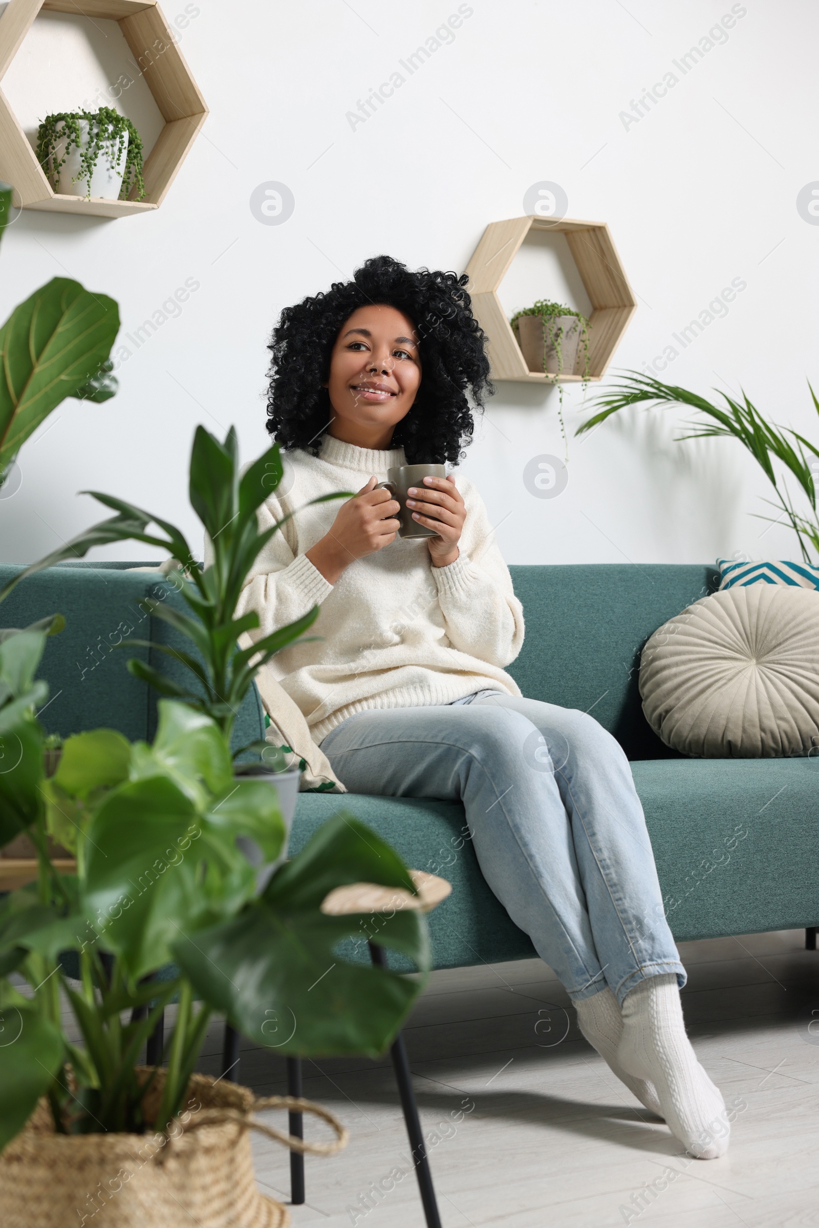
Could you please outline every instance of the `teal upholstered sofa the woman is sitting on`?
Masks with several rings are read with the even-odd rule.
[[[156,702],[125,670],[126,656],[173,670],[162,653],[118,648],[119,640],[174,634],[144,615],[140,598],[172,604],[172,587],[129,562],[60,565],[25,580],[0,607],[2,626],[59,610],[66,628],[49,640],[41,677],[50,731],[97,726],[150,738]],[[0,585],[20,567],[0,566]],[[510,667],[524,695],[592,712],[631,760],[678,941],[819,925],[819,760],[685,759],[664,747],[640,705],[640,652],[668,618],[716,587],[716,571],[678,565],[512,567],[527,634]],[[128,632],[128,628],[133,630]],[[236,745],[263,736],[255,690],[236,726]],[[421,798],[302,793],[291,851],[340,807],[390,841],[404,861],[449,879],[452,895],[430,919],[436,968],[535,954],[486,887],[463,839],[464,812]],[[360,958],[367,958],[366,947]]]

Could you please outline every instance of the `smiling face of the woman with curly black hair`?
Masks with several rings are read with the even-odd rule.
[[[386,303],[359,307],[341,325],[330,355],[324,383],[334,414],[329,433],[357,447],[388,448],[420,383],[411,319]]]

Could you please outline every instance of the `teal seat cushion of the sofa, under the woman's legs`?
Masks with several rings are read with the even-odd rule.
[[[657,759],[631,770],[678,941],[819,923],[819,760]],[[410,868],[452,883],[452,895],[430,914],[436,968],[535,954],[463,840],[459,803],[301,793],[290,852],[339,809],[389,841]],[[367,958],[363,941],[357,950],[350,943],[340,950]]]

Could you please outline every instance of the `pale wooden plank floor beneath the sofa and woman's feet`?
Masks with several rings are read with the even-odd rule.
[[[786,931],[680,948],[689,1033],[737,1108],[728,1154],[711,1162],[681,1154],[614,1078],[543,963],[433,974],[405,1038],[422,1126],[438,1138],[430,1151],[446,1228],[819,1226],[819,1022],[809,1032],[819,953],[803,947],[803,931]],[[217,1072],[220,1049],[215,1024],[201,1070]],[[239,1082],[284,1092],[284,1061],[243,1050]],[[305,1094],[351,1138],[335,1157],[308,1157],[293,1226],[422,1228],[390,1066],[306,1062]],[[308,1130],[329,1137],[322,1125]],[[266,1140],[253,1146],[260,1187],[287,1202],[287,1154]],[[667,1169],[678,1175],[663,1178]],[[641,1195],[656,1178],[667,1187]],[[393,1187],[367,1210],[382,1180]]]

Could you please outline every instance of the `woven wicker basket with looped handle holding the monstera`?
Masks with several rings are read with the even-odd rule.
[[[163,1073],[145,1098],[149,1119],[158,1109]],[[253,1116],[254,1110],[274,1108],[313,1113],[333,1126],[338,1138],[302,1143]],[[187,1110],[165,1135],[58,1135],[42,1100],[0,1156],[0,1224],[286,1228],[286,1207],[257,1189],[250,1130],[319,1154],[340,1151],[347,1137],[332,1114],[309,1100],[257,1100],[246,1087],[214,1083],[204,1074],[193,1076]]]

